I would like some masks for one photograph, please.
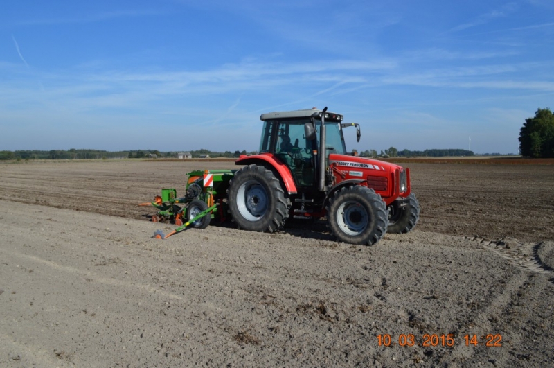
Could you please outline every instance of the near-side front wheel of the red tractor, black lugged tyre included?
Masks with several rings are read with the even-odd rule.
[[[383,238],[388,225],[386,205],[366,186],[346,186],[334,193],[327,207],[334,236],[344,243],[373,245]]]

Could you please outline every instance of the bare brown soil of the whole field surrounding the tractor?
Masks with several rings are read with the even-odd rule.
[[[152,238],[175,226],[138,203],[232,162],[1,163],[0,366],[551,365],[552,166],[403,165],[420,223],[364,247],[321,222]]]

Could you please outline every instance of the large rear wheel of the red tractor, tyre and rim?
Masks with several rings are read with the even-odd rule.
[[[241,229],[272,233],[289,217],[285,191],[264,166],[251,164],[238,170],[227,195],[231,216]]]

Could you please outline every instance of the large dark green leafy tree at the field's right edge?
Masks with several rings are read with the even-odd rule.
[[[519,130],[519,153],[526,157],[554,157],[554,115],[550,109],[537,109],[534,118],[525,119]]]

